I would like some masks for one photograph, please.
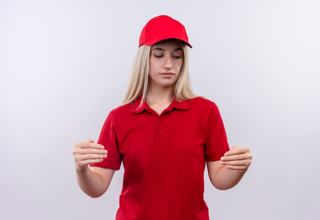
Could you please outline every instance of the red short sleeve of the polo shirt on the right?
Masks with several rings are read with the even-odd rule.
[[[230,149],[228,146],[227,137],[219,109],[214,103],[207,118],[205,132],[205,160],[220,160],[224,153],[229,151]]]

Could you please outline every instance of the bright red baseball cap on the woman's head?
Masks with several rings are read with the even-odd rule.
[[[192,48],[188,42],[185,26],[167,15],[160,15],[149,20],[142,29],[139,47],[141,45],[151,46],[159,41],[172,38],[184,41]]]

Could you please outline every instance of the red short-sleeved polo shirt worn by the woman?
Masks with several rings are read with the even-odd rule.
[[[98,143],[108,157],[92,164],[124,166],[117,220],[209,219],[203,200],[205,161],[229,150],[217,106],[206,99],[176,102],[160,115],[140,99],[112,110]]]

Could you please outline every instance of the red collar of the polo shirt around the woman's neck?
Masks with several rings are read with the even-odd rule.
[[[150,106],[146,103],[146,101],[143,102],[141,108],[139,108],[140,102],[142,99],[142,95],[138,97],[132,104],[132,112],[134,113],[140,113],[143,112],[144,110],[150,111],[151,108]],[[172,109],[180,109],[180,110],[188,110],[189,109],[189,100],[185,100],[182,102],[177,102],[175,98],[173,99],[172,103],[170,106],[165,110],[165,111],[171,111]]]

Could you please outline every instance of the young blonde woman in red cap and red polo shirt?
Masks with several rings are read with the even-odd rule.
[[[217,189],[235,186],[251,163],[248,148],[229,149],[217,106],[193,93],[188,46],[180,22],[151,19],[123,105],[109,113],[98,143],[74,146],[78,183],[90,197],[108,189],[123,162],[117,220],[209,219],[205,163]]]

